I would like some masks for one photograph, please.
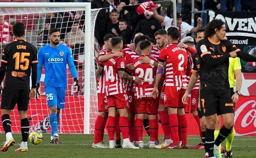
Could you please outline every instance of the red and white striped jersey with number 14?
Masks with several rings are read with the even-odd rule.
[[[125,71],[124,57],[112,57],[103,62],[105,73],[106,96],[125,93],[123,80],[119,77],[118,71]]]

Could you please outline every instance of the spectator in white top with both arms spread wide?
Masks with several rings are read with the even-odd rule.
[[[156,18],[157,20],[160,20],[164,23],[165,30],[167,30],[169,27],[174,27],[174,21],[172,18],[167,17],[167,16],[163,17],[163,16],[159,15],[155,9],[153,9],[153,12],[154,12],[154,14],[153,14],[154,18]],[[177,29],[179,30],[179,33],[180,33],[179,40],[186,37],[186,34],[189,34],[192,32],[197,32],[197,30],[201,27],[201,21],[202,21],[202,19],[200,17],[198,17],[198,19],[197,19],[198,24],[196,27],[193,27],[193,26],[189,25],[188,23],[183,22],[181,15],[179,13],[177,13]]]

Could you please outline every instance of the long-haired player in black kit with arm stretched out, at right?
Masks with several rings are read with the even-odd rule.
[[[206,118],[205,143],[209,158],[220,158],[218,146],[234,126],[233,101],[230,98],[228,82],[228,58],[239,56],[246,61],[256,61],[256,57],[241,52],[229,40],[224,40],[225,35],[225,23],[222,20],[212,20],[206,27],[205,38],[198,42],[200,101]],[[221,115],[224,125],[214,141],[215,114]]]

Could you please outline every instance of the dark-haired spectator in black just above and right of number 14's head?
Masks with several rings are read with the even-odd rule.
[[[125,19],[119,20],[119,29],[120,33],[118,36],[121,36],[123,38],[123,44],[130,44],[131,43],[131,30],[127,26],[127,21]]]

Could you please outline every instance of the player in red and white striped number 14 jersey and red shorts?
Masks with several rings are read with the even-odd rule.
[[[112,51],[117,53],[122,51],[122,37],[113,37],[111,39]],[[111,54],[109,53],[109,54]],[[108,99],[108,120],[107,131],[109,138],[109,148],[115,148],[114,133],[115,133],[115,116],[116,109],[119,112],[119,126],[123,136],[122,148],[139,149],[135,147],[129,140],[129,123],[128,123],[128,102],[125,94],[125,86],[123,80],[134,80],[134,83],[140,83],[141,79],[135,76],[128,75],[125,72],[124,57],[112,57],[105,61],[105,92]]]

